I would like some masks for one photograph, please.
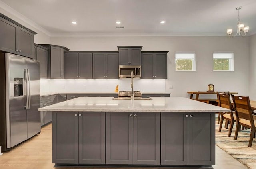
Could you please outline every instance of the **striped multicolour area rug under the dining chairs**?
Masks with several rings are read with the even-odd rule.
[[[231,137],[228,137],[228,129],[224,128],[224,122],[222,130],[219,132],[220,124],[217,124],[216,120],[216,145],[249,169],[256,169],[256,138],[252,141],[252,147],[248,147],[250,129],[241,130],[237,140],[234,140],[236,126],[233,127]]]

